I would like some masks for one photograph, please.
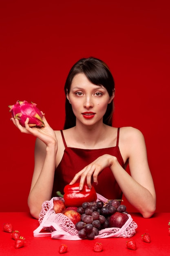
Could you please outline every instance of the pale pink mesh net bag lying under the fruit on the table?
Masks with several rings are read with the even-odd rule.
[[[63,198],[54,197],[50,201],[45,201],[42,204],[42,210],[39,215],[40,225],[33,231],[33,236],[51,236],[51,238],[62,240],[82,240],[82,238],[79,238],[78,231],[75,229],[73,222],[63,213],[55,213],[53,210],[53,200],[63,200]],[[97,201],[99,200],[103,202],[108,201],[97,193]],[[136,233],[135,229],[137,229],[137,224],[132,220],[131,215],[128,214],[128,220],[123,227],[102,229],[95,236],[95,239],[108,237],[130,238]]]

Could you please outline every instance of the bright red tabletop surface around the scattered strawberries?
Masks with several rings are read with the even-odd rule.
[[[133,220],[137,223],[136,234],[132,237],[137,244],[137,250],[132,251],[126,248],[126,241],[130,238],[103,238],[95,240],[57,240],[49,237],[36,238],[33,237],[33,231],[39,226],[38,220],[33,219],[26,212],[1,212],[0,222],[11,222],[14,230],[20,231],[25,237],[26,243],[23,248],[15,249],[14,240],[11,234],[0,231],[0,256],[45,256],[45,255],[61,255],[58,248],[61,243],[68,246],[68,252],[64,255],[70,256],[96,256],[93,251],[95,242],[102,242],[104,249],[100,252],[101,256],[113,255],[153,255],[168,256],[170,255],[170,235],[168,233],[168,222],[170,221],[170,213],[155,213],[152,218],[145,219],[138,213],[130,213]],[[1,229],[2,230],[2,229]],[[141,235],[148,232],[151,237],[150,243],[144,243]]]

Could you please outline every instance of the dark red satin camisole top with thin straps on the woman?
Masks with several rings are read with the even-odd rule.
[[[119,164],[125,168],[124,161],[119,150],[119,128],[117,129],[116,146],[101,149],[82,149],[67,147],[64,139],[63,131],[61,130],[63,143],[65,146],[64,154],[60,164],[55,169],[54,184],[52,197],[56,196],[56,191],[64,193],[64,186],[69,184],[76,173],[81,171],[85,166],[93,162],[97,157],[109,154],[117,157]],[[77,180],[79,182],[79,180]],[[105,168],[98,175],[98,185],[93,186],[97,193],[103,195],[107,199],[121,199],[122,191],[117,184],[110,168]]]

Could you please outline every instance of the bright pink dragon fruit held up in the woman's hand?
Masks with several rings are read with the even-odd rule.
[[[14,105],[9,105],[9,112],[12,113],[12,117],[19,120],[22,126],[25,126],[24,122],[26,118],[29,117],[29,126],[44,127],[44,122],[42,121],[42,113],[36,107],[37,104],[28,101],[17,101]]]

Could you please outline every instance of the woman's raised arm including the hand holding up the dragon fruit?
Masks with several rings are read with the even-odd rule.
[[[28,206],[31,215],[38,218],[42,203],[51,199],[57,155],[57,138],[45,117],[43,117],[45,127],[42,128],[30,128],[29,119],[26,120],[25,127],[22,127],[17,119],[12,119],[12,121],[21,132],[37,137],[35,142],[35,166]]]

